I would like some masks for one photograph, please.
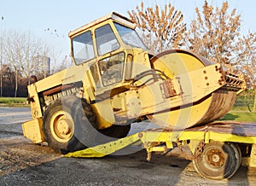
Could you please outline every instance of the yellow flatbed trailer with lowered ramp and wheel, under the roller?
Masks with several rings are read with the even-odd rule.
[[[183,131],[161,128],[140,131],[65,156],[102,158],[131,144],[145,148],[148,161],[154,152],[167,154],[179,148],[185,159],[193,161],[195,170],[210,179],[229,179],[240,166],[256,167],[256,123],[236,121],[215,121]]]

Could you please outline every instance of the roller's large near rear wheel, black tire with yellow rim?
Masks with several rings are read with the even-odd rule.
[[[83,107],[80,98],[63,96],[47,108],[44,113],[43,131],[49,147],[62,154],[84,148],[80,139],[88,139],[90,129],[83,125],[90,125],[90,122],[84,122],[84,114],[82,115],[81,111],[87,108]],[[93,128],[91,125],[90,127]]]

